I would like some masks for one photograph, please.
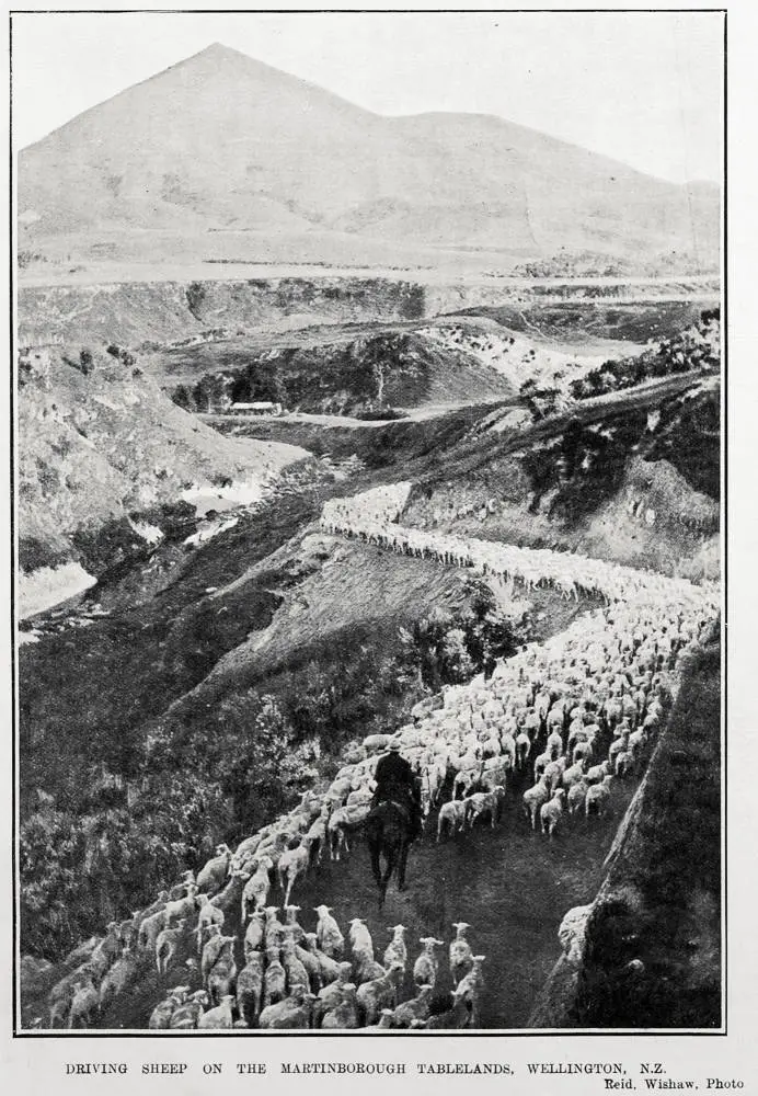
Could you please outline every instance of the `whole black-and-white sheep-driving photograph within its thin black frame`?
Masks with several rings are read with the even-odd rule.
[[[12,13],[15,1035],[724,1032],[725,24]]]

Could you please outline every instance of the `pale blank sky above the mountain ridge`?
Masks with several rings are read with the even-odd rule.
[[[16,148],[213,42],[378,114],[496,114],[673,182],[722,174],[722,16],[28,13]]]

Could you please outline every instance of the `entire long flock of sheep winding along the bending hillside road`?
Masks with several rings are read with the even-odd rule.
[[[308,932],[292,892],[324,854],[338,860],[349,852],[370,809],[377,760],[391,739],[421,777],[425,819],[437,811],[437,841],[476,822],[494,827],[516,774],[521,787],[533,780],[521,796],[524,813],[548,837],[579,811],[602,817],[615,781],[641,772],[676,693],[682,649],[717,603],[712,587],[597,560],[585,570],[578,556],[453,538],[436,545],[429,534],[392,527],[409,492],[410,484],[398,484],[326,503],[322,527],[366,539],[381,528],[378,543],[400,550],[420,545],[422,553],[510,578],[529,574],[533,584],[570,594],[581,585],[609,604],[501,661],[490,681],[474,678],[417,705],[413,722],[394,734],[353,744],[325,791],[306,792],[233,853],[218,846],[196,878],[187,872],[152,906],[112,923],[51,991],[51,1027],[97,1024],[148,966],[168,987],[146,1016],[153,1029],[478,1026],[483,957],[471,952],[468,925],[453,926],[445,995],[433,1000],[435,948],[443,941],[425,937],[413,966],[415,996],[401,1001],[409,962],[403,926],[391,929],[379,963],[366,924],[353,918],[347,958],[330,909],[315,907]],[[269,904],[275,887],[284,922],[279,906]],[[579,914],[586,920],[587,910],[564,918],[559,936],[567,954],[581,947]],[[239,934],[227,935],[238,922]]]

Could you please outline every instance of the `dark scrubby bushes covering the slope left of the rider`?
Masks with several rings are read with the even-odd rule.
[[[24,765],[24,950],[58,958],[146,905],[205,863],[216,843],[233,843],[292,807],[356,734],[392,730],[430,690],[490,672],[495,658],[526,641],[528,632],[498,613],[485,584],[471,583],[468,593],[468,608],[435,610],[399,640],[393,626],[367,626],[333,637],[328,651],[320,642],[300,649],[265,692],[238,686],[213,706],[185,701],[181,715],[175,709],[128,729],[83,716],[76,740],[51,728],[54,744],[37,743],[36,756],[67,751],[76,777],[54,799],[35,794],[32,783],[47,778],[44,764],[34,773]],[[229,649],[226,637],[214,639],[209,619],[197,617],[194,631],[187,623],[173,637],[184,661],[161,673],[181,678],[180,692],[196,680],[187,669],[193,660],[205,674]],[[249,623],[227,627],[244,635]],[[154,678],[154,688],[161,683],[164,676]]]

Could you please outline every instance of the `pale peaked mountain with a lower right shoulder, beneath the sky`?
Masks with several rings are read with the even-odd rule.
[[[702,266],[719,190],[498,117],[383,117],[213,45],[19,157],[20,249],[50,258],[430,265],[588,251]]]

